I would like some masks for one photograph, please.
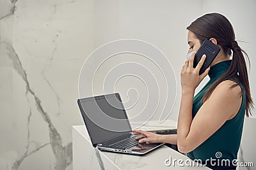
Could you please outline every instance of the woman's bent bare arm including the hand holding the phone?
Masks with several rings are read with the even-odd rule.
[[[205,57],[203,56],[198,66],[193,68],[194,57],[195,54],[185,62],[180,73],[182,97],[178,118],[177,145],[179,151],[183,153],[191,152],[218,131],[229,118],[236,115],[242,102],[241,88],[237,86],[231,89],[234,81],[223,81],[192,119],[195,89],[209,71],[206,70],[205,73],[199,75]]]

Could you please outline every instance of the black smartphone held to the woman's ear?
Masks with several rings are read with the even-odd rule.
[[[215,57],[220,52],[220,47],[209,41],[208,39],[205,39],[198,51],[196,52],[193,67],[195,68],[198,64],[198,62],[201,60],[202,56],[205,54],[206,59],[204,61],[203,66],[201,67],[199,71],[199,75],[204,73],[204,71],[211,65],[212,61],[215,59]]]

